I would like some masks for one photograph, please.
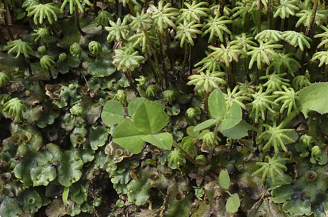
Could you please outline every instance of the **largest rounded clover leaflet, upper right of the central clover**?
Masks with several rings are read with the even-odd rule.
[[[161,130],[167,123],[169,123],[169,116],[155,102],[141,103],[134,114],[134,126],[146,134]]]

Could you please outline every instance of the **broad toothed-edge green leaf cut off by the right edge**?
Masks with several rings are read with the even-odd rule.
[[[316,111],[320,114],[328,112],[328,82],[315,83],[298,91],[296,106],[305,118],[309,111]]]

